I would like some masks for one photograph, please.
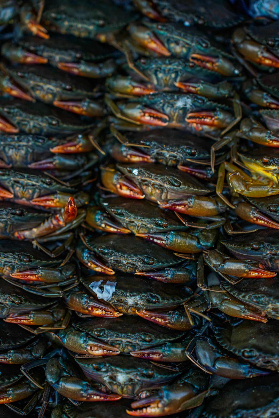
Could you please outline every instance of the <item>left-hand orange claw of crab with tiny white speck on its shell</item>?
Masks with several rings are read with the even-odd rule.
[[[102,170],[101,176],[102,184],[113,193],[131,199],[144,199],[141,189],[119,171],[105,168]]]

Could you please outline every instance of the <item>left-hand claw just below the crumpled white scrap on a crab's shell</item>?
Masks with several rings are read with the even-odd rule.
[[[69,291],[64,294],[63,299],[70,309],[81,314],[100,316],[101,318],[117,318],[123,315],[81,291]]]

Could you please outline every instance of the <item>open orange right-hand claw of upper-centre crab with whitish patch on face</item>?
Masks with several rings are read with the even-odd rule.
[[[226,110],[216,109],[214,111],[188,113],[185,120],[188,123],[215,126],[222,129],[233,121],[233,116]]]

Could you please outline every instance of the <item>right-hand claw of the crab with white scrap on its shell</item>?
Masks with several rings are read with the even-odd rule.
[[[184,312],[155,312],[142,310],[136,311],[136,314],[141,316],[141,318],[147,319],[147,321],[153,322],[154,324],[175,329],[177,331],[188,331],[189,329],[192,329],[189,318]]]

